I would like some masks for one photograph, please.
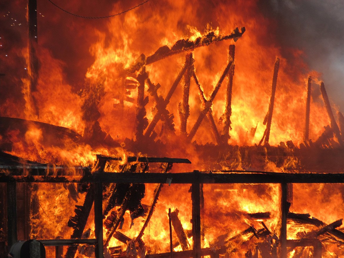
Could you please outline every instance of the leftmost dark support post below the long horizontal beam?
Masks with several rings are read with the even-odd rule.
[[[17,183],[7,183],[7,241],[11,247],[17,243]]]

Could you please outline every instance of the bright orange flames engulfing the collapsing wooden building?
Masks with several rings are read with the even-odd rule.
[[[113,4],[113,12],[121,7],[120,5],[121,3]],[[245,4],[240,1],[216,4],[199,1],[150,2],[147,3],[147,8],[133,9],[122,16],[112,17],[101,23],[101,26],[69,24],[70,27],[80,26],[80,33],[92,34],[92,42],[87,39],[87,46],[80,47],[91,60],[85,62],[87,67],[84,65],[84,69],[80,69],[78,66],[80,71],[76,71],[82,74],[79,77],[83,77],[83,81],[73,82],[71,72],[66,72],[70,69],[68,60],[60,60],[53,50],[49,49],[49,44],[42,41],[36,53],[40,64],[36,89],[31,92],[32,85],[27,75],[21,79],[25,110],[14,107],[10,109],[8,102],[1,106],[1,110],[8,109],[2,114],[26,119],[13,118],[15,126],[1,128],[0,141],[1,146],[4,146],[3,151],[27,161],[53,166],[65,165],[68,167],[64,173],[66,176],[82,175],[79,167],[90,168],[94,173],[92,169],[97,161],[97,154],[121,157],[120,162],[107,161],[104,171],[113,173],[121,173],[124,171],[123,167],[135,165],[138,166],[137,170],[132,172],[142,172],[138,161],[127,160],[130,155],[186,157],[192,161],[192,166],[174,165],[172,172],[192,169],[256,169],[283,173],[304,171],[302,159],[297,156],[295,149],[301,150],[302,144],[305,146],[316,142],[326,132],[324,127],[331,125],[318,89],[321,74],[311,71],[304,63],[302,51],[281,49],[274,36],[278,33],[274,25],[276,21],[257,11],[258,7],[259,1],[246,1]],[[81,28],[83,26],[85,28]],[[239,32],[242,37],[235,38],[235,42],[223,40],[186,52],[179,49],[180,52],[176,55],[151,64],[147,62],[148,57],[178,49],[180,44],[196,44],[209,38],[213,40],[230,35],[234,28],[241,26],[245,26],[246,31],[241,29]],[[44,35],[42,37],[44,39]],[[230,137],[227,140],[222,135],[224,121],[227,119],[227,77],[210,104],[209,99],[213,97],[225,67],[231,62],[228,58],[230,44],[235,45],[235,68]],[[183,47],[187,48],[187,45]],[[190,111],[190,116],[187,118],[186,133],[183,133],[179,114],[183,113],[180,107],[186,96],[186,76],[184,75],[175,89],[172,85],[187,64],[185,55],[191,52],[193,65],[185,66],[185,73],[191,73],[187,97],[187,111]],[[22,51],[22,56],[30,67],[29,51],[26,48]],[[276,57],[280,60],[280,66],[269,144],[255,146],[260,145],[258,143],[266,129],[264,120],[269,110]],[[140,85],[139,74],[142,75],[143,72],[147,72],[147,79]],[[193,72],[195,76],[192,76]],[[32,73],[31,68],[28,73]],[[313,79],[309,137],[311,142],[304,139],[308,76]],[[201,90],[197,89],[195,77],[198,78]],[[160,87],[154,92],[154,87],[158,85]],[[138,104],[140,86],[144,93],[142,103]],[[202,98],[205,98],[204,103]],[[211,113],[220,138],[225,139],[221,143],[217,142],[218,139],[214,136],[216,132],[209,129],[213,125],[211,119],[205,116],[195,136],[192,139],[189,137],[207,105],[211,106],[211,112],[208,114]],[[164,110],[161,111],[160,108]],[[140,114],[142,119],[139,119]],[[156,125],[153,120],[155,116],[159,118]],[[147,123],[142,126],[143,135],[138,132],[138,124],[141,122]],[[152,136],[146,135],[147,126],[150,124],[154,124]],[[340,144],[342,139],[337,138],[329,136],[326,138],[329,139],[329,144],[320,141],[318,145],[331,147],[331,144]],[[256,153],[251,154],[252,150]],[[281,160],[271,158],[278,155],[286,157]],[[148,172],[151,171],[154,171],[152,166]],[[74,183],[33,184],[32,198],[37,207],[31,214],[30,237],[70,238],[73,229],[67,226],[69,217],[75,215],[74,206],[83,205],[87,198],[85,187]],[[104,186],[106,190],[111,187]],[[157,185],[146,184],[145,187],[141,203],[144,208],[149,209]],[[332,187],[338,192],[333,192]],[[189,190],[190,185],[187,184],[165,184],[162,188],[159,202],[142,236],[146,248],[140,249],[143,255],[169,252],[169,208],[172,212],[179,211],[178,219],[187,243],[187,247],[176,244],[181,239],[178,233],[173,232],[173,250],[182,251],[192,246],[192,205]],[[236,251],[238,255],[244,256],[247,250],[254,250],[258,243],[261,243],[258,234],[266,232],[270,232],[266,248],[275,248],[278,245],[281,234],[279,185],[205,184],[202,191],[202,248],[226,247],[228,253]],[[312,233],[316,228],[343,217],[343,209],[338,208],[342,207],[344,202],[342,185],[294,184],[293,191],[289,212],[309,213],[307,219],[316,218],[323,224],[300,226],[296,222],[289,222],[288,239],[299,239],[300,235]],[[107,201],[105,192],[104,201]],[[105,220],[110,219],[111,212],[119,213],[120,209],[118,206],[112,208],[105,214]],[[89,229],[85,238],[95,237],[94,216],[92,209],[84,230],[87,232]],[[144,216],[132,219],[130,212],[126,211],[123,219],[123,225],[118,230],[130,241],[135,240],[144,225]],[[44,226],[39,227],[40,224]],[[108,232],[109,229],[104,227],[104,236]],[[340,252],[340,255],[343,255],[343,250],[340,251],[330,240],[324,239],[324,242],[328,241],[330,244],[326,245],[323,257],[335,257]],[[121,246],[124,251],[130,241],[125,244],[111,237],[107,248],[110,250]],[[310,254],[314,253],[310,248],[305,250]],[[303,251],[295,248],[291,250],[289,257]],[[51,251],[49,255],[53,254]],[[78,257],[86,257],[80,248],[77,254]]]

